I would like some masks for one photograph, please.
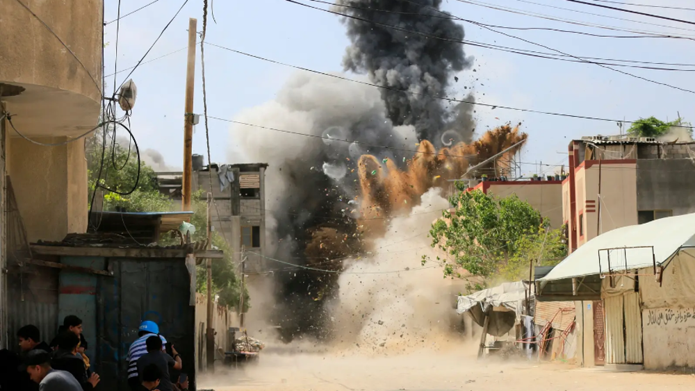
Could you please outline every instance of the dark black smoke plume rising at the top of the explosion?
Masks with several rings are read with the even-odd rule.
[[[441,99],[434,98],[447,96],[455,72],[471,65],[463,45],[452,42],[463,40],[464,28],[436,11],[441,0],[338,0],[336,4],[335,9],[348,16],[343,23],[352,42],[343,66],[392,89],[383,89],[381,94],[393,124],[413,125],[420,140],[431,140],[437,146],[448,126],[455,126],[458,135],[464,136],[456,141],[470,141],[473,128],[466,127],[472,124],[466,107],[449,112]],[[455,121],[450,123],[450,119]]]

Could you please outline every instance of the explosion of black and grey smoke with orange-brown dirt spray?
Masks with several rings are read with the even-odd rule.
[[[338,300],[345,261],[369,258],[380,238],[398,232],[389,227],[388,217],[425,207],[420,203],[428,190],[445,192],[448,179],[526,137],[518,127],[505,125],[472,142],[473,105],[443,104],[455,74],[471,61],[461,44],[432,38],[464,37],[459,24],[436,11],[440,4],[338,1],[352,42],[344,69],[366,74],[362,81],[384,88],[297,73],[273,101],[236,118],[314,136],[239,124],[231,129],[231,161],[243,156],[270,165],[265,183],[272,216],[266,241],[275,248],[268,253],[300,265],[278,269],[271,260],[265,262],[266,269],[277,270],[269,321],[282,325],[285,340],[331,338],[326,303]],[[471,95],[465,99],[474,101]]]

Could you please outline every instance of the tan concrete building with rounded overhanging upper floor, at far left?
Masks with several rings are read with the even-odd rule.
[[[21,292],[12,291],[11,299],[21,294],[22,305],[13,308],[25,311],[22,322],[58,319],[51,313],[55,303],[44,300],[54,295],[43,294],[57,289],[57,269],[22,272],[26,266],[8,261],[13,247],[63,240],[87,229],[85,140],[69,141],[99,119],[102,6],[101,0],[0,0],[0,186],[10,189],[9,178],[13,190],[3,193],[0,205],[0,347],[8,344],[8,316],[13,316],[8,291],[17,288],[7,283],[21,281]],[[6,216],[11,199],[15,207]]]

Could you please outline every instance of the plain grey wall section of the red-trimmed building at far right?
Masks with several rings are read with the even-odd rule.
[[[673,210],[674,216],[695,212],[692,161],[637,160],[637,210]]]

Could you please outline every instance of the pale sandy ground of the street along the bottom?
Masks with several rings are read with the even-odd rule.
[[[470,350],[470,349],[468,349]],[[477,361],[471,354],[418,353],[368,357],[350,353],[265,353],[246,369],[218,369],[199,390],[693,390],[695,376],[616,373],[563,363]]]

